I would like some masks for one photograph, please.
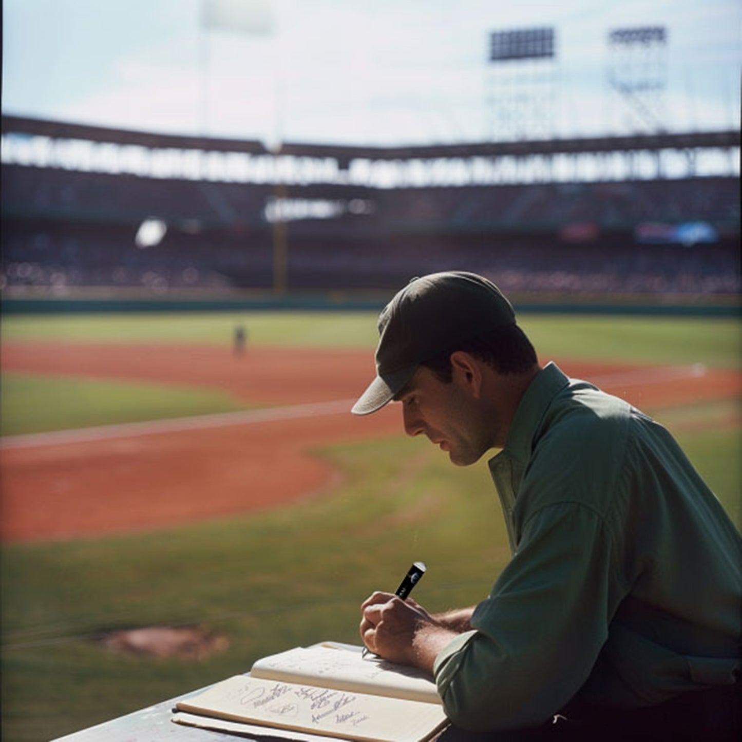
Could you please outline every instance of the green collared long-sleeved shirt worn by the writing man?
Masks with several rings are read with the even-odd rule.
[[[490,460],[513,557],[436,658],[464,729],[630,708],[741,669],[742,539],[672,436],[554,364]]]

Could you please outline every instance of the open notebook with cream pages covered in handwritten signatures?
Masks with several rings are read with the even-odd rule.
[[[263,657],[249,676],[177,703],[173,720],[233,733],[369,742],[423,742],[447,726],[430,677],[332,643]],[[286,733],[272,731],[279,729]]]

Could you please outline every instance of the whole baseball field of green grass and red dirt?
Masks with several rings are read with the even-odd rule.
[[[522,325],[542,363],[666,424],[742,528],[738,319]],[[19,315],[1,340],[4,740],[357,642],[361,600],[416,559],[433,610],[485,597],[508,559],[485,462],[406,438],[394,404],[349,414],[374,372],[372,313]],[[151,627],[200,641],[112,640]]]

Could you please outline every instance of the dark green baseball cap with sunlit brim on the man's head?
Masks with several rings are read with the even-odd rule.
[[[460,271],[413,278],[379,315],[376,378],[351,412],[368,415],[380,410],[423,361],[513,324],[513,307],[487,278]]]

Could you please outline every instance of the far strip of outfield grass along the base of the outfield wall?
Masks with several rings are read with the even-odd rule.
[[[243,312],[143,315],[11,316],[6,341],[185,342],[229,344],[237,324],[249,342],[308,347],[374,347],[374,312]],[[738,367],[742,332],[736,318],[522,315],[541,355],[613,361]]]

